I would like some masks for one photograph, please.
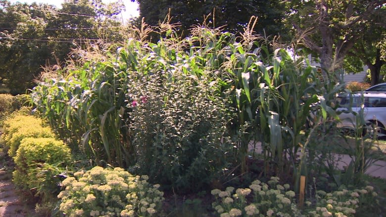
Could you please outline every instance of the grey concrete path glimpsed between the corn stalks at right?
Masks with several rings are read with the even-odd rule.
[[[256,153],[261,154],[261,143],[256,142],[256,145],[253,145],[252,143],[249,144],[249,151],[255,150]],[[298,153],[299,156],[301,153]],[[351,158],[348,155],[345,154],[335,154],[335,159],[338,163],[338,169],[343,170],[344,167],[347,167],[350,162]],[[373,177],[380,177],[386,179],[386,161],[377,161],[374,162],[365,172],[365,174],[369,174]]]

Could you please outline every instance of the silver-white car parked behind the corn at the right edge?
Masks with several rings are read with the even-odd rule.
[[[339,114],[339,128],[355,129],[355,120],[363,105],[363,117],[368,129],[377,130],[379,136],[386,135],[386,93],[363,92],[363,97],[361,93],[353,93],[351,96],[338,96],[338,101],[340,108],[337,111],[348,111],[351,105],[355,112]]]

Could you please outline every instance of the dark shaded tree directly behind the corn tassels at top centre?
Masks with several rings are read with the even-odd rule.
[[[135,0],[131,0],[135,1]],[[282,21],[285,16],[285,3],[282,0],[137,0],[140,5],[140,18],[156,26],[163,21],[170,9],[173,23],[181,23],[183,35],[189,33],[192,25],[203,22],[215,27],[225,26],[225,31],[242,31],[251,16],[257,16],[254,30],[259,34],[279,35],[287,31]],[[265,32],[264,32],[265,31]]]

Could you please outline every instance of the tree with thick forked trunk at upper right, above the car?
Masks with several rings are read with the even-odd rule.
[[[341,66],[343,58],[364,37],[366,25],[376,22],[372,14],[386,0],[294,0],[290,16],[304,44],[317,53],[325,72]]]

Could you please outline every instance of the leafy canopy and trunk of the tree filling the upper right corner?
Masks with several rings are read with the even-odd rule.
[[[320,58],[326,72],[341,68],[345,56],[347,68],[362,61],[372,65],[385,32],[383,1],[292,0],[288,2],[288,21],[295,24],[298,38]],[[354,58],[352,58],[354,57]],[[362,68],[362,66],[360,66]],[[379,75],[379,73],[378,73]]]

